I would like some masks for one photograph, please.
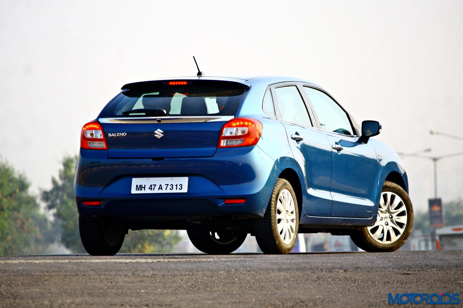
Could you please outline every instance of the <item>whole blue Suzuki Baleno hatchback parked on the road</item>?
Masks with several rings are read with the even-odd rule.
[[[287,254],[298,233],[394,251],[413,207],[396,152],[319,85],[287,77],[181,77],[124,85],[82,127],[75,200],[89,254],[128,229],[186,229],[209,254],[247,234]]]

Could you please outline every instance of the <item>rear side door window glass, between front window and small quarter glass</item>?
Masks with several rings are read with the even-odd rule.
[[[306,105],[295,85],[275,88],[275,93],[283,120],[312,126]]]

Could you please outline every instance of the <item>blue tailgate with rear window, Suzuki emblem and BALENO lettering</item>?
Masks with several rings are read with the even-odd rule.
[[[246,86],[212,80],[132,84],[99,121],[109,158],[211,157]]]

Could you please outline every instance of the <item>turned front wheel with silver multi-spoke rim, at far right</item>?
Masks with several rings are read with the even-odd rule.
[[[368,252],[391,252],[407,241],[413,227],[413,205],[399,185],[385,181],[378,217],[373,226],[354,231],[350,238]]]

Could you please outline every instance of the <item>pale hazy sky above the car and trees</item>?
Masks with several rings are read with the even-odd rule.
[[[396,151],[463,152],[463,1],[0,2],[0,156],[49,188],[83,124],[128,82],[191,76],[312,80]],[[404,158],[415,209],[430,160]],[[463,156],[438,163],[443,201],[463,196]]]

